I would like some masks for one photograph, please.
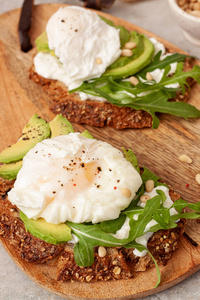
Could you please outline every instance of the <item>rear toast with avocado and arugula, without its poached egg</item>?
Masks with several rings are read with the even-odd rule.
[[[110,20],[103,20],[114,26]],[[97,127],[108,125],[116,129],[157,128],[157,113],[200,117],[200,111],[187,103],[190,87],[195,80],[200,83],[200,68],[195,65],[195,60],[171,53],[170,49],[166,49],[165,57],[161,51],[154,56],[154,45],[149,38],[135,31],[129,32],[122,26],[116,28],[120,31],[122,53],[128,50],[132,54],[122,54],[100,78],[85,81],[74,90],[68,91],[61,81],[44,78],[37,74],[34,65],[31,67],[29,77],[53,100],[50,109],[71,122]],[[133,49],[126,49],[129,44],[134,44]],[[55,57],[55,52],[49,49],[46,32],[37,38],[36,45],[39,52]],[[176,70],[169,73],[175,63]],[[163,76],[157,82],[151,74],[159,69]],[[80,93],[84,93],[85,100]]]

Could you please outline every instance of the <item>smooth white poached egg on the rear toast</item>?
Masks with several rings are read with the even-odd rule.
[[[121,55],[119,31],[97,13],[78,6],[60,8],[49,19],[46,32],[56,56],[38,53],[35,70],[63,82],[69,90],[100,77]]]

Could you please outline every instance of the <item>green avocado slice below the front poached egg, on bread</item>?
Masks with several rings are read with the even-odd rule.
[[[71,228],[64,223],[56,225],[48,223],[42,218],[38,220],[29,219],[22,211],[20,211],[20,218],[24,222],[26,231],[47,243],[62,244],[72,238]]]

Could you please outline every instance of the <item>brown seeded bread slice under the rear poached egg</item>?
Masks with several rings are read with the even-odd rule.
[[[192,65],[193,60],[187,58],[184,64],[184,70],[191,70]],[[29,71],[29,78],[40,84],[53,100],[50,109],[55,114],[62,114],[70,122],[83,123],[96,127],[108,125],[116,129],[145,128],[152,126],[152,116],[148,112],[135,110],[130,107],[118,107],[107,101],[81,101],[78,95],[69,94],[67,86],[62,82],[46,79],[38,75],[34,66],[32,66]],[[194,80],[189,78],[188,83],[191,86]],[[189,89],[187,89],[184,95],[182,95],[181,92],[177,92],[176,98],[171,99],[171,101],[186,102],[189,96],[190,92]]]

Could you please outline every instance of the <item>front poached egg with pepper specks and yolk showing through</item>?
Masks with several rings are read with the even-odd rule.
[[[141,184],[118,149],[70,133],[46,139],[26,154],[8,198],[28,218],[97,223],[117,218]]]

